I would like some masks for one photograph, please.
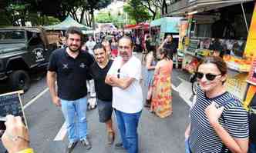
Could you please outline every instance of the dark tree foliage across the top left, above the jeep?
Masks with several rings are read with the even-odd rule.
[[[25,25],[25,22],[32,22],[32,25],[51,25],[71,15],[77,22],[82,23],[87,13],[90,15],[87,19],[92,22],[94,10],[105,8],[110,2],[111,0],[8,0],[0,2],[0,13],[5,14],[0,15],[0,19],[4,18],[1,16],[7,17],[9,22],[5,23],[11,25]],[[78,10],[83,12],[81,18],[76,14]],[[2,21],[5,20],[1,19],[0,25],[8,25]]]

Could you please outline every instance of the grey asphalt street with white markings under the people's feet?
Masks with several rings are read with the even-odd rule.
[[[140,54],[137,55],[140,57]],[[143,68],[143,76],[146,69]],[[144,77],[143,77],[144,78]],[[140,118],[139,138],[140,153],[181,153],[184,152],[184,131],[188,123],[190,101],[192,99],[189,75],[180,69],[173,69],[173,115],[158,118],[144,108]],[[146,88],[143,85],[144,96]],[[29,125],[31,146],[39,153],[64,152],[68,143],[67,136],[62,135],[60,141],[54,141],[64,123],[60,108],[52,105],[49,90],[45,82],[45,74],[35,79],[32,88],[22,95],[25,105],[25,116]],[[113,115],[116,129],[116,141],[120,141],[116,118]],[[113,145],[106,144],[105,125],[99,123],[97,109],[87,111],[89,138],[93,148],[89,151],[81,143],[76,145],[74,153],[122,153]],[[65,132],[64,132],[65,133]],[[0,152],[1,153],[1,152]]]

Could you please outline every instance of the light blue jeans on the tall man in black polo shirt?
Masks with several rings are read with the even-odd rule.
[[[66,119],[69,142],[83,140],[87,136],[86,109],[87,98],[74,101],[61,99],[62,113]]]

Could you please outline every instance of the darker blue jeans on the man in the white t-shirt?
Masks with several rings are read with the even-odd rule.
[[[126,148],[128,153],[138,153],[139,141],[137,128],[141,111],[129,114],[115,109],[115,112],[123,148]]]

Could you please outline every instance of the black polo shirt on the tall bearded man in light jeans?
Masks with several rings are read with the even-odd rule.
[[[86,79],[93,62],[87,52],[79,52],[76,58],[70,57],[65,48],[52,52],[48,70],[57,74],[59,98],[73,101],[87,95]]]

